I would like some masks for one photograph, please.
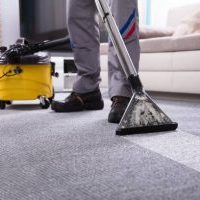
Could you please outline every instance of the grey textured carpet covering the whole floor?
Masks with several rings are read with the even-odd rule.
[[[178,137],[119,137],[107,123],[110,101],[104,99],[102,111],[57,114],[27,102],[0,111],[0,199],[199,200],[199,157],[183,163],[170,154],[182,144],[165,152],[159,137],[176,144],[187,136],[192,148],[187,138],[199,141],[199,102],[158,101],[179,122]],[[186,153],[200,155],[198,146]]]

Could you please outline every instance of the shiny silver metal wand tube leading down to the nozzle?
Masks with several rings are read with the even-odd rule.
[[[115,19],[112,16],[108,3],[106,2],[106,0],[95,0],[95,3],[99,14],[107,28],[113,46],[115,47],[118,59],[124,73],[126,74],[127,78],[129,78],[130,75],[137,76],[138,73],[119,32]]]

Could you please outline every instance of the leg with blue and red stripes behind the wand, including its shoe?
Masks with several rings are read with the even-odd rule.
[[[138,70],[140,46],[137,0],[111,0],[111,9],[135,68]],[[111,43],[109,43],[108,56],[109,96],[113,101],[108,121],[118,123],[132,91]]]

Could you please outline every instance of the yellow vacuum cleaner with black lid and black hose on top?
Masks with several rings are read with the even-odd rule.
[[[68,38],[29,44],[18,40],[10,49],[1,47],[0,109],[17,100],[40,100],[41,108],[48,108],[53,97],[52,76],[55,64],[48,55],[36,54],[58,45],[69,43]]]

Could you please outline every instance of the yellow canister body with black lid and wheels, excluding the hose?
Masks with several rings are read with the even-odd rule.
[[[0,102],[1,108],[6,102],[15,100],[35,100],[49,107],[53,98],[53,66],[48,56],[24,56],[20,63],[0,62]],[[42,100],[43,98],[43,100]]]

